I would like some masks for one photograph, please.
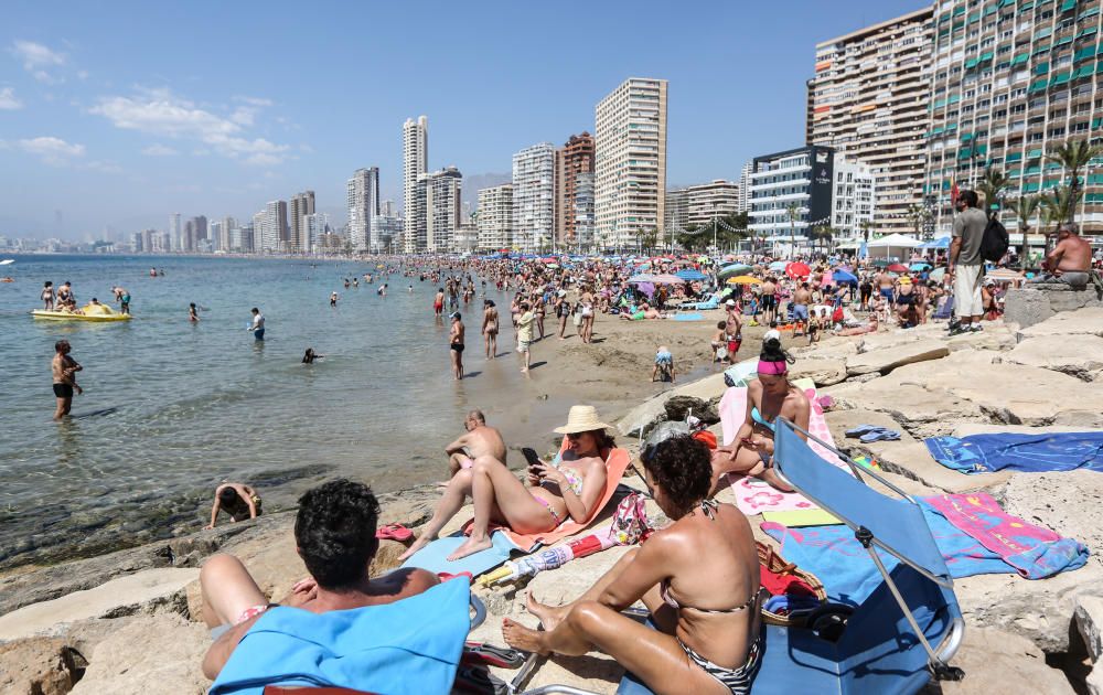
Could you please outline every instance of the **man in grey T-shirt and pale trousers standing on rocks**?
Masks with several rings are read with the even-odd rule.
[[[951,331],[951,335],[982,330],[984,300],[981,298],[981,276],[984,274],[984,258],[981,257],[981,244],[988,216],[978,204],[976,191],[962,191],[957,196],[959,214],[954,218],[946,276],[954,288],[954,311],[961,324]]]

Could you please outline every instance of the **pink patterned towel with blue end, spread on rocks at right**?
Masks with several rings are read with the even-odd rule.
[[[1083,544],[1007,514],[987,493],[942,494],[923,501],[1027,579],[1050,577],[1088,562]]]

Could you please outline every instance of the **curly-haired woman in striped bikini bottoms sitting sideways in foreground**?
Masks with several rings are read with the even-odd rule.
[[[759,667],[759,560],[747,517],[709,500],[709,451],[687,435],[641,455],[655,502],[674,523],[629,550],[572,603],[529,594],[545,631],[506,619],[513,648],[581,656],[601,650],[656,693],[749,693]],[[717,578],[722,577],[722,581]],[[620,613],[642,600],[652,630]]]

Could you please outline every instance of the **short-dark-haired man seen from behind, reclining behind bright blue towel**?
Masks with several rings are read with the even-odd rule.
[[[303,494],[295,518],[295,542],[310,578],[297,584],[279,603],[268,601],[242,560],[233,555],[212,556],[200,571],[203,620],[216,637],[203,657],[203,673],[216,678],[238,642],[275,606],[325,613],[393,603],[439,584],[424,569],[397,569],[368,579],[368,566],[379,547],[378,518],[379,503],[361,483],[334,480]]]

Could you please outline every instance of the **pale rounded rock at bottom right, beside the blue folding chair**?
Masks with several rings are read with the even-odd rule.
[[[992,695],[993,693],[1045,693],[1061,695],[1075,691],[1064,673],[1046,664],[1046,654],[1030,640],[1002,630],[970,628],[951,665],[965,671],[965,680],[943,681],[944,695]]]

